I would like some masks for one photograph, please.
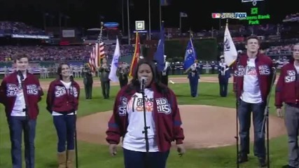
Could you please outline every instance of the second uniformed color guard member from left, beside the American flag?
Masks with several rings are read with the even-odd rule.
[[[108,99],[109,92],[110,92],[110,79],[109,79],[110,67],[109,67],[109,65],[104,63],[99,68],[99,71],[101,73],[101,76],[99,79],[101,80],[102,94],[103,94],[104,99]]]

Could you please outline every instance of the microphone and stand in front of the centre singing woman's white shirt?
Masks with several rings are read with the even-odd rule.
[[[144,106],[144,131],[142,132],[144,134],[144,138],[146,140],[146,157],[145,157],[145,167],[148,168],[148,151],[149,151],[149,144],[148,144],[148,129],[150,127],[146,126],[146,104],[145,104],[145,95],[144,95],[144,83],[141,82],[141,94],[142,94],[142,104]]]

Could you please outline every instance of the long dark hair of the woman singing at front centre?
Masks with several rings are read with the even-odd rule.
[[[155,85],[155,87],[157,87],[158,92],[166,93],[168,91],[168,88],[167,88],[167,86],[165,86],[161,83],[157,66],[155,66],[155,63],[153,61],[148,60],[148,59],[139,59],[139,62],[137,63],[136,68],[134,69],[133,78],[130,81],[127,92],[130,92],[134,89],[139,90],[140,83],[138,80],[138,69],[139,69],[139,66],[141,66],[141,64],[148,64],[148,66],[151,67],[151,71],[153,73],[153,80],[151,81],[151,84],[153,84],[153,85]]]

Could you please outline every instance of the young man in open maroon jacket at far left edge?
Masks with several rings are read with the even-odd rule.
[[[14,58],[16,71],[2,80],[0,103],[4,104],[11,135],[11,157],[13,168],[22,167],[22,131],[25,137],[25,162],[27,168],[34,168],[34,138],[38,102],[43,90],[39,80],[28,73],[29,58],[18,54]]]

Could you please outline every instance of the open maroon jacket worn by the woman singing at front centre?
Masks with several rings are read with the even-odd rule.
[[[106,131],[107,137],[106,141],[109,144],[119,144],[120,137],[125,137],[127,132],[127,113],[124,109],[127,109],[127,103],[134,95],[136,90],[127,93],[128,85],[123,87],[116,96],[116,102],[113,107],[113,115],[109,120],[109,127]],[[172,90],[169,90],[168,93],[163,96],[160,92],[157,91],[157,88],[152,85],[154,92],[154,101],[153,101],[153,117],[155,120],[156,129],[155,134],[158,148],[160,152],[168,151],[171,147],[171,142],[176,141],[176,144],[183,144],[183,129],[181,128],[181,116],[176,102],[176,95]],[[157,104],[157,101],[164,99],[166,104]],[[170,107],[169,107],[169,105]],[[171,109],[170,113],[158,113],[158,106],[163,106],[163,108]],[[161,109],[161,108],[160,108]]]

